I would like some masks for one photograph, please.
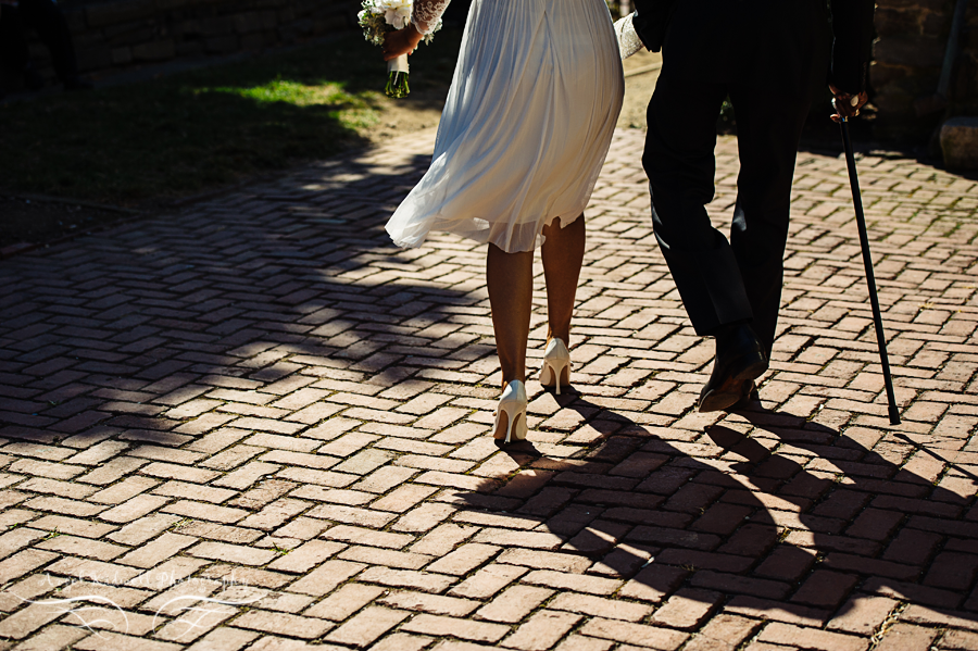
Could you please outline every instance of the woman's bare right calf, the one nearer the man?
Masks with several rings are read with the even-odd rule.
[[[543,228],[543,279],[547,281],[547,340],[570,345],[570,317],[584,262],[585,223],[580,215],[566,228],[554,220]]]

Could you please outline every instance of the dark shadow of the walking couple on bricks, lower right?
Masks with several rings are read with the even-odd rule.
[[[509,483],[456,496],[474,513],[526,521],[521,528],[532,534],[504,547],[585,556],[589,574],[619,579],[604,587],[618,597],[660,603],[673,594],[689,603],[653,619],[685,630],[720,610],[837,633],[876,630],[896,612],[915,624],[978,627],[978,592],[967,592],[978,571],[970,500],[864,447],[879,435],[842,436],[755,405],[738,412],[741,430],[706,427],[730,462],[711,464],[573,389],[553,399],[601,424],[599,445],[572,461],[519,442],[505,449],[521,467]],[[539,483],[530,466],[550,468],[547,488],[528,490]],[[966,513],[970,522],[949,522]],[[538,533],[547,536],[531,539]],[[940,544],[944,536],[961,538]],[[560,576],[567,561],[556,554],[510,562],[537,568],[524,583],[602,593],[600,579]],[[823,642],[804,648],[848,643]]]

